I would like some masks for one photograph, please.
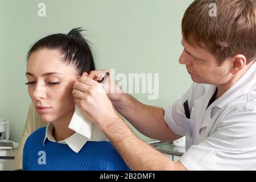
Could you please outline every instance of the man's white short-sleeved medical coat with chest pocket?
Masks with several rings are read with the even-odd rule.
[[[207,109],[216,86],[193,83],[165,109],[164,120],[186,137],[188,170],[256,170],[256,63]],[[191,118],[184,114],[188,100]]]

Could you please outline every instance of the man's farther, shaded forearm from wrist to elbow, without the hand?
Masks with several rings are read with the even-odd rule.
[[[181,137],[164,121],[164,110],[159,107],[144,105],[126,93],[122,93],[119,100],[112,103],[131,125],[147,137],[161,141],[172,141]]]

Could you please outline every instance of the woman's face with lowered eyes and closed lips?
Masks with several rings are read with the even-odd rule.
[[[57,50],[39,49],[27,64],[28,93],[44,122],[70,118],[75,107],[72,90],[76,69],[63,63],[59,55]]]

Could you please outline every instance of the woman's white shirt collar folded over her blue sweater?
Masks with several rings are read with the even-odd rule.
[[[51,123],[48,123],[46,127],[46,136],[44,137],[43,144],[45,144],[46,139],[50,140],[51,142],[56,142],[55,138],[52,135],[53,129],[54,129],[54,126]],[[68,144],[68,146],[74,152],[78,153],[87,141],[88,141],[88,138],[80,135],[79,133],[75,133],[71,135],[71,137],[61,140],[57,143]]]

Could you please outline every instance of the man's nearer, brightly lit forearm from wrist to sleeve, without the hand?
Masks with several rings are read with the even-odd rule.
[[[100,127],[132,170],[187,170],[181,162],[172,162],[167,156],[144,143],[119,117],[102,123]]]

